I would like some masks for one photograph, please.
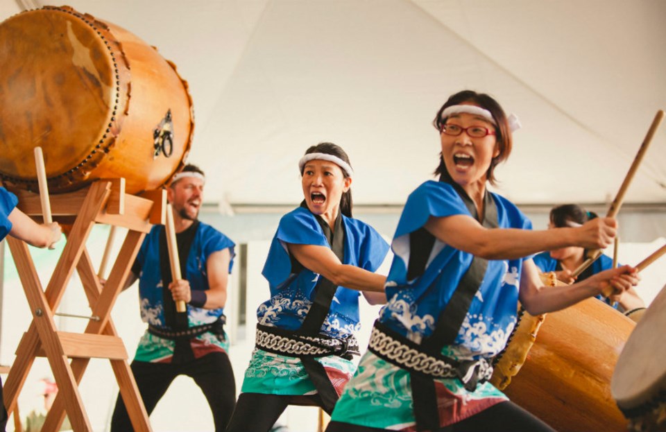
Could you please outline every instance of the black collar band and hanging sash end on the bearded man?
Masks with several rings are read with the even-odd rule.
[[[194,240],[194,234],[198,228],[199,221],[194,223],[183,232],[176,234],[176,243],[178,244],[178,261],[180,261],[180,274],[187,277],[187,258],[189,250]],[[184,312],[176,311],[176,302],[173,301],[169,284],[171,278],[171,261],[169,260],[169,248],[167,247],[167,230],[162,227],[160,230],[160,272],[162,273],[162,305],[164,307],[164,324],[174,330],[185,330],[189,327],[187,318],[187,307]],[[173,362],[187,361],[194,359],[194,353],[191,352],[189,340],[176,340],[176,347],[173,350]]]

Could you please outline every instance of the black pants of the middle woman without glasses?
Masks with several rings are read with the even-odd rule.
[[[301,401],[307,400],[308,404],[322,406],[318,395],[299,398]],[[227,432],[268,432],[293,401],[294,397],[289,395],[241,393]]]

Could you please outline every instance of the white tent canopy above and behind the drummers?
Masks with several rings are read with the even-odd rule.
[[[188,162],[207,172],[209,203],[297,202],[296,161],[332,141],[355,167],[355,203],[402,205],[437,164],[430,121],[466,88],[522,121],[499,193],[609,202],[666,108],[662,1],[68,3],[156,46],[189,81]],[[45,4],[4,0],[0,13]],[[626,202],[666,202],[666,126]]]

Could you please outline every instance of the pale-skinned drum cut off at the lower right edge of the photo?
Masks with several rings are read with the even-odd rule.
[[[617,358],[610,392],[631,431],[666,431],[666,286]]]

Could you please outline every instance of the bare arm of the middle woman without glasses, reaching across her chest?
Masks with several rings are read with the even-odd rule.
[[[384,292],[386,276],[343,264],[333,251],[325,246],[287,243],[287,248],[302,266],[323,275],[333,284],[357,291]]]

